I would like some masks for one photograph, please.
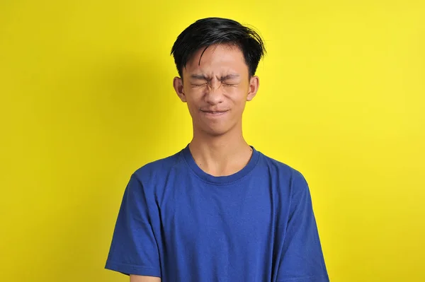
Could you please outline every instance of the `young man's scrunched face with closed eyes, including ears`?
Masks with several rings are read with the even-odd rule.
[[[212,45],[204,49],[186,64],[183,81],[174,78],[176,93],[188,103],[195,131],[218,136],[242,129],[245,103],[256,95],[259,78],[249,77],[238,47]]]

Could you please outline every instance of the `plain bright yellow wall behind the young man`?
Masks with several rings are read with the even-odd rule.
[[[331,281],[425,281],[425,1],[1,1],[0,281],[103,269],[130,174],[176,153],[198,18],[254,25],[257,150],[310,184]]]

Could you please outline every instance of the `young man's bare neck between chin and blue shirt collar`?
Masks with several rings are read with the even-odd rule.
[[[242,130],[222,136],[194,132],[189,149],[196,164],[214,176],[232,175],[242,170],[252,155],[252,148],[244,140]]]

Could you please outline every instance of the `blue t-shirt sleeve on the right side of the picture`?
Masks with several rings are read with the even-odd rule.
[[[277,281],[328,282],[310,190],[300,172],[295,171],[290,187],[290,214]]]

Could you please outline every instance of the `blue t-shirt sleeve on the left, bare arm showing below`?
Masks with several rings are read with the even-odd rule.
[[[115,223],[106,269],[123,274],[161,277],[159,251],[150,213],[152,202],[133,174],[125,188]]]

